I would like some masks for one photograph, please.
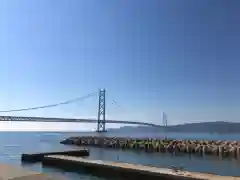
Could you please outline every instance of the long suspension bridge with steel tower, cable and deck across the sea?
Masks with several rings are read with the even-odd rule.
[[[145,122],[138,122],[138,121],[120,121],[120,120],[107,120],[106,119],[106,90],[99,90],[98,95],[98,114],[97,119],[73,119],[73,118],[47,118],[47,117],[24,117],[24,116],[0,116],[0,121],[24,121],[24,122],[81,122],[81,123],[97,123],[97,132],[106,132],[106,124],[114,123],[114,124],[132,124],[132,125],[144,125],[144,126],[153,126],[158,127],[160,125],[153,124],[153,123],[145,123]],[[77,98],[74,100],[65,101],[58,104],[51,104],[46,106],[38,106],[32,108],[24,108],[24,109],[13,109],[13,110],[6,110],[0,111],[0,113],[6,112],[19,112],[19,111],[28,111],[28,110],[36,110],[36,109],[43,109],[49,107],[55,107],[63,104],[69,104],[75,101],[84,100],[88,97],[95,95],[95,93],[89,94],[87,96],[83,96],[81,98]]]

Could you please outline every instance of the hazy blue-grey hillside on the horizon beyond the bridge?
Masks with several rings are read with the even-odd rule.
[[[196,133],[240,133],[240,123],[233,122],[201,122],[180,124],[168,127],[122,127],[119,129],[109,129],[114,132],[196,132]]]

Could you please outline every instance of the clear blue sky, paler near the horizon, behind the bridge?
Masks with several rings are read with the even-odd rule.
[[[169,124],[239,121],[239,8],[232,0],[2,0],[0,109],[106,88],[108,118],[160,124],[163,110]],[[1,115],[95,118],[97,97]],[[0,124],[5,130],[95,127]]]

